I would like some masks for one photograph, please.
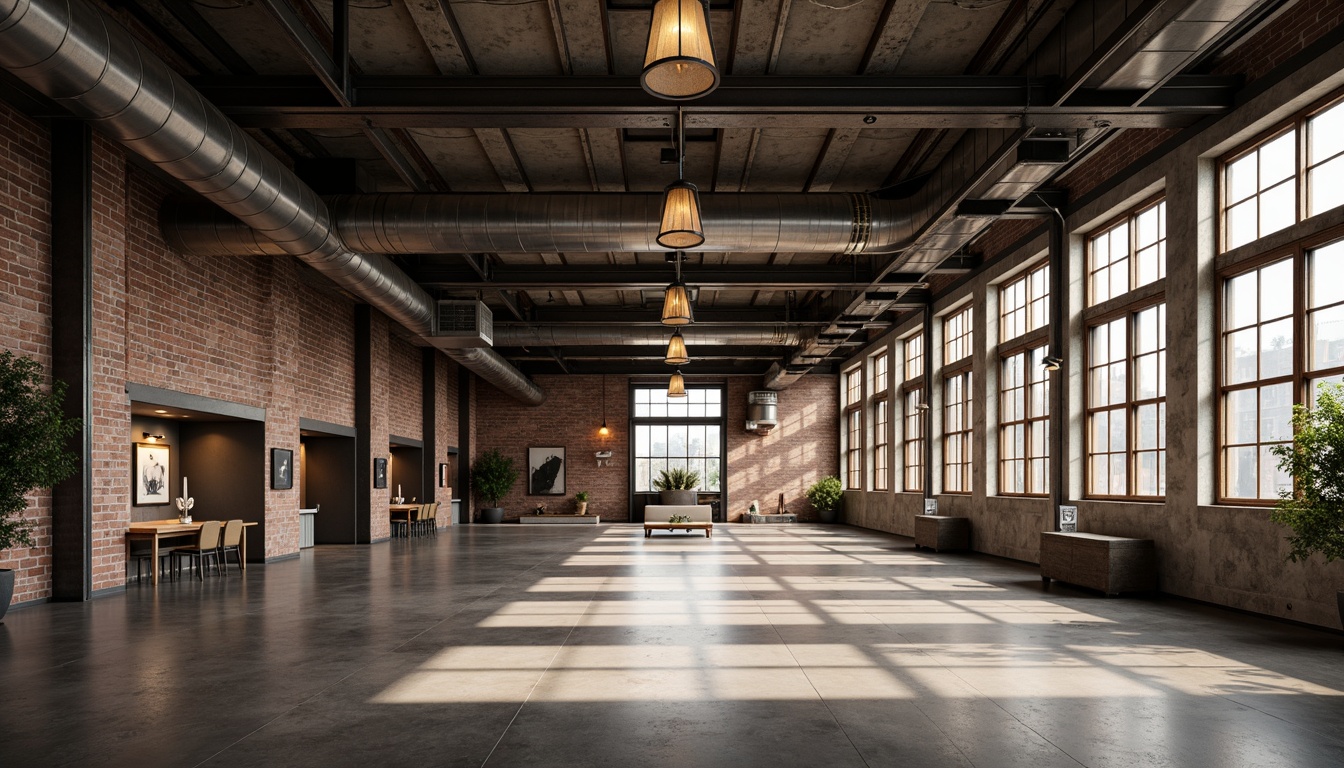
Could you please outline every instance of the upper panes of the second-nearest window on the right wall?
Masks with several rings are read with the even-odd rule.
[[[1167,276],[1167,202],[1126,215],[1089,239],[1089,305]]]

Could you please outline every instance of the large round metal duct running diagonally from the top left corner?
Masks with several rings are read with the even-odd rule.
[[[83,0],[0,0],[0,66],[280,252],[429,336],[434,304],[425,289],[386,256],[348,249],[312,188],[97,8]],[[445,354],[523,402],[544,399],[493,351]]]

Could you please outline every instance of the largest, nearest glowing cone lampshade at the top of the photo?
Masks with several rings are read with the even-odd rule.
[[[659,98],[696,98],[719,87],[710,15],[700,0],[657,0],[644,52],[644,90]]]

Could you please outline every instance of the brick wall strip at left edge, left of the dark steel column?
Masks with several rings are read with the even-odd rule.
[[[47,130],[0,102],[0,350],[51,370],[51,155]],[[0,550],[16,569],[13,600],[44,597],[51,584],[51,492],[28,496],[34,543]]]

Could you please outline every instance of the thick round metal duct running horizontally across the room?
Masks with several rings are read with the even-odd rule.
[[[329,198],[344,242],[362,253],[605,253],[655,242],[660,195],[345,195]],[[910,200],[851,194],[700,195],[702,253],[892,253],[915,235]],[[277,253],[265,237],[191,200],[167,200],[164,238],[195,256]]]

